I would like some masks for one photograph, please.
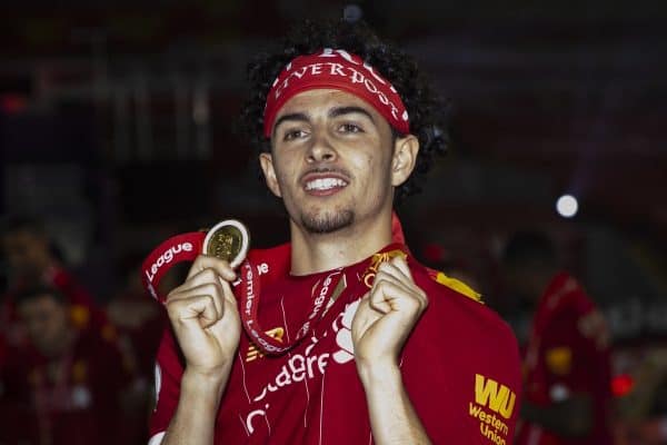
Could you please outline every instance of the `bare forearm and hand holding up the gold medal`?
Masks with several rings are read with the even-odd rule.
[[[199,256],[167,310],[186,358],[176,414],[162,445],[212,444],[216,416],[240,338],[240,317],[227,261]]]

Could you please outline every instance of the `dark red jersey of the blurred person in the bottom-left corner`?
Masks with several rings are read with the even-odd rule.
[[[0,373],[0,443],[118,443],[129,377],[115,342],[90,329],[57,358],[12,348]]]

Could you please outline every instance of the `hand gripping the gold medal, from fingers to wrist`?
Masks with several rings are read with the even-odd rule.
[[[167,296],[167,312],[189,372],[209,377],[229,373],[241,335],[229,263],[197,257],[186,281]]]

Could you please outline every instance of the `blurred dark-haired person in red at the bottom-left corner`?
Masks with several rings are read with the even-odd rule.
[[[57,289],[24,288],[16,305],[33,350],[12,348],[0,369],[0,443],[118,443],[130,376],[115,340],[73,325]]]

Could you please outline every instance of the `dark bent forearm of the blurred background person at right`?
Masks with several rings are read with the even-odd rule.
[[[593,406],[588,394],[574,394],[549,406],[521,403],[521,417],[561,436],[583,437],[593,427]]]

